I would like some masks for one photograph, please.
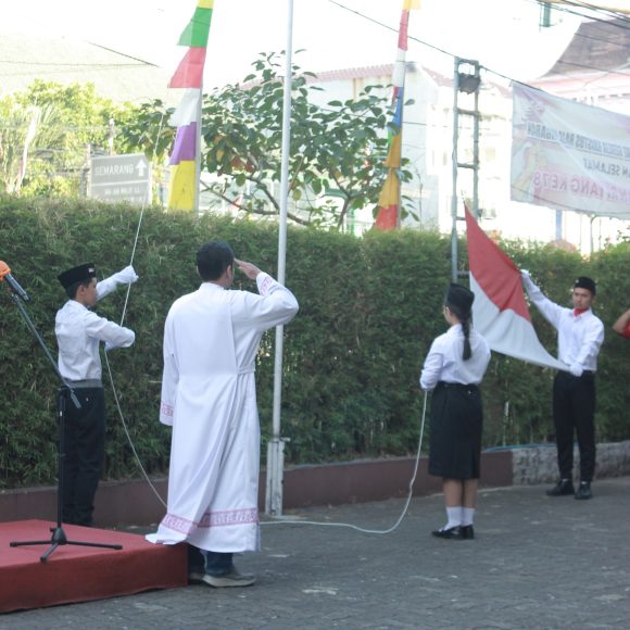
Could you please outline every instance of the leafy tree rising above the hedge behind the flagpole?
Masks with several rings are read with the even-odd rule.
[[[281,58],[261,54],[242,84],[204,94],[202,165],[213,175],[205,187],[217,203],[250,215],[280,211]],[[350,211],[377,203],[390,113],[387,98],[378,93],[381,86],[367,87],[356,99],[317,105],[314,94],[322,89],[312,84],[314,76],[293,66],[288,216],[302,225],[340,228]],[[171,113],[154,101],[123,134],[151,154],[165,152],[173,130],[159,134],[156,126]],[[402,181],[412,177],[404,165],[400,175]]]

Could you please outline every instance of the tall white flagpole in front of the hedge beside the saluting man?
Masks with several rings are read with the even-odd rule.
[[[280,225],[278,235],[278,282],[285,284],[287,259],[287,203],[289,200],[289,150],[291,140],[291,55],[293,47],[293,0],[287,0],[287,47],[285,51],[285,91],[282,106],[282,158],[280,164]],[[280,438],[280,404],[282,400],[284,326],[276,327],[276,358],[274,369],[273,434],[267,445],[267,487],[265,512],[282,514],[282,483],[285,475],[285,442]]]

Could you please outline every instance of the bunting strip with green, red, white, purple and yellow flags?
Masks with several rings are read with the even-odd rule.
[[[214,0],[198,0],[194,14],[178,41],[179,46],[188,46],[189,49],[168,83],[169,88],[186,88],[179,106],[168,121],[169,125],[177,127],[168,161],[168,210],[198,210],[203,68],[213,7]]]

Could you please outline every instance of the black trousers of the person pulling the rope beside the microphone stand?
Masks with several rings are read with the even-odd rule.
[[[105,396],[102,387],[74,391],[81,408],[66,401],[63,520],[91,525],[105,449]]]

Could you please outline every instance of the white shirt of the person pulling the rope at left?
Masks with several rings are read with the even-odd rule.
[[[105,291],[99,291],[102,284],[97,285],[99,299],[115,288],[115,285],[111,288],[105,285]],[[136,340],[133,330],[99,317],[76,300],[68,300],[56,312],[54,333],[59,346],[59,371],[67,380],[101,379],[100,341],[113,348],[128,348]]]

